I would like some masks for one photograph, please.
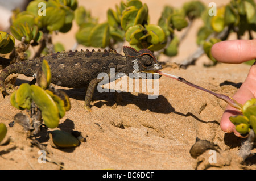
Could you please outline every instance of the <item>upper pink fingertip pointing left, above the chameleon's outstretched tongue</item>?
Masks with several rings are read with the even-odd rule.
[[[219,62],[240,64],[256,58],[256,39],[226,40],[213,45],[212,56]]]

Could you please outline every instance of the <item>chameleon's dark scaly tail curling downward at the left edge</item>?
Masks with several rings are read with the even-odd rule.
[[[5,79],[12,73],[18,73],[18,74],[24,74],[27,76],[32,76],[32,71],[28,71],[31,68],[31,62],[28,61],[21,61],[17,62],[15,64],[11,64],[7,66],[5,69],[3,69],[0,73],[0,92],[3,94],[3,96],[9,95],[8,92],[6,92],[5,89]]]

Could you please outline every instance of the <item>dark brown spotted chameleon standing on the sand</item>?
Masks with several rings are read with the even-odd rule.
[[[154,75],[154,71],[162,69],[154,53],[148,49],[137,51],[132,47],[123,46],[123,53],[125,56],[117,53],[116,50],[98,49],[96,51],[93,49],[90,51],[81,49],[81,51],[57,52],[32,60],[19,61],[10,64],[1,71],[0,92],[3,96],[9,95],[5,89],[4,82],[12,73],[36,77],[36,73],[45,59],[51,69],[51,83],[62,87],[87,87],[85,108],[88,111],[92,111],[90,102],[92,101],[95,87],[101,81],[101,79],[97,78],[99,73],[107,73],[110,77],[110,68],[114,68],[115,75],[117,73],[125,73],[126,75],[133,73],[140,76],[142,72],[153,73],[152,75]]]

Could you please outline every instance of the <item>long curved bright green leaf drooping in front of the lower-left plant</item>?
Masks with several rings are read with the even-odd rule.
[[[48,128],[56,128],[59,125],[59,109],[56,103],[41,87],[31,85],[31,97],[42,111],[44,124]]]

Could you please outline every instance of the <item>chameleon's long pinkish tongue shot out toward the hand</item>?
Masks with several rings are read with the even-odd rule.
[[[196,89],[200,89],[200,90],[203,90],[203,91],[205,91],[205,92],[208,92],[208,93],[210,93],[210,94],[216,96],[217,98],[224,100],[224,101],[225,101],[226,103],[228,103],[230,106],[232,106],[232,107],[234,107],[234,108],[237,108],[237,110],[240,110],[240,111],[242,110],[242,105],[241,105],[240,103],[236,102],[236,100],[230,98],[229,96],[226,96],[226,95],[224,95],[224,94],[217,94],[217,93],[212,92],[212,91],[210,91],[210,90],[204,89],[203,87],[197,86],[197,85],[195,85],[195,84],[193,84],[193,83],[191,83],[191,82],[186,81],[186,80],[185,80],[184,78],[182,78],[182,77],[177,77],[177,76],[175,76],[175,75],[163,73],[162,71],[155,71],[155,73],[158,73],[158,74],[164,75],[164,76],[166,76],[166,77],[175,79],[175,80],[177,80],[177,81],[183,82],[183,83],[185,83],[185,84],[187,84],[187,85],[189,85],[189,86],[195,87]]]

